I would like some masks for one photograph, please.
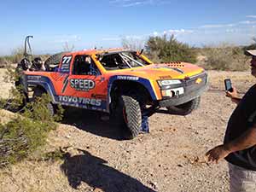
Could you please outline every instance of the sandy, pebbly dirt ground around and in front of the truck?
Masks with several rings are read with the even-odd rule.
[[[98,113],[69,109],[44,148],[69,147],[66,160],[24,160],[0,172],[0,191],[229,191],[226,162],[209,165],[203,156],[222,143],[236,108],[224,96],[224,78],[232,79],[241,95],[255,80],[249,72],[208,74],[209,90],[199,109],[187,116],[160,110],[149,119],[150,133],[133,140],[121,140]],[[9,85],[2,80],[0,85],[5,96]]]

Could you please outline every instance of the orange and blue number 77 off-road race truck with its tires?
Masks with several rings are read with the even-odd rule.
[[[198,107],[207,88],[203,68],[185,62],[153,64],[126,49],[83,50],[52,55],[46,71],[25,71],[22,84],[33,97],[47,93],[56,104],[109,113],[129,137],[137,137],[142,114],[167,108],[186,115]]]

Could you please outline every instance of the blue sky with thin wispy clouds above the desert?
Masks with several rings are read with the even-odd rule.
[[[174,34],[184,43],[251,44],[256,37],[255,0],[9,0],[0,4],[0,55],[23,46],[32,34],[35,53],[120,47]]]

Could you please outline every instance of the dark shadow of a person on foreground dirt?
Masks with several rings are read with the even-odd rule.
[[[66,153],[64,163],[61,165],[61,171],[67,176],[73,189],[78,189],[84,182],[104,192],[154,192],[137,179],[106,165],[108,161],[93,156],[85,150],[79,149],[79,151],[83,154],[71,156]]]

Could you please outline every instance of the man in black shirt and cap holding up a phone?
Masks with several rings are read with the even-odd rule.
[[[256,49],[247,50],[252,56],[251,73],[256,77]],[[225,159],[229,163],[230,191],[256,191],[256,84],[239,98],[236,88],[226,96],[237,104],[231,114],[224,144],[209,150],[209,162]]]

